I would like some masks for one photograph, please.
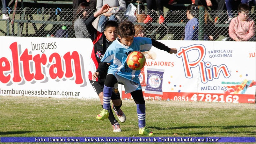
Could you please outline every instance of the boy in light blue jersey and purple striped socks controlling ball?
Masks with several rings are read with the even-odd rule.
[[[139,123],[139,134],[153,135],[153,132],[146,128],[146,107],[143,98],[142,87],[139,81],[140,70],[132,70],[128,67],[126,59],[129,53],[133,51],[149,51],[152,46],[164,50],[170,54],[177,53],[176,48],[169,48],[164,44],[150,38],[134,37],[134,25],[130,21],[122,22],[118,27],[118,38],[107,48],[97,71],[93,77],[97,78],[100,73],[104,72],[105,63],[109,63],[108,74],[103,88],[103,110],[97,119],[103,120],[108,118],[110,111],[110,100],[112,87],[121,83],[124,85],[125,92],[131,93],[136,105]]]

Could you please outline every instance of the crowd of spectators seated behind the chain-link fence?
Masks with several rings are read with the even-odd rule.
[[[123,17],[127,16],[128,20],[140,25],[143,30],[141,33],[146,35],[145,29],[152,31],[150,30],[152,27],[148,27],[151,23],[166,26],[172,21],[167,18],[170,15],[164,14],[164,7],[172,10],[179,1],[182,0],[74,0],[72,6],[75,36],[89,38],[85,21],[104,4],[108,4],[111,8],[95,20],[94,26],[99,32],[104,31],[104,25],[108,20],[120,23],[124,20]],[[7,12],[10,1],[1,0],[1,2],[2,19],[10,19]],[[249,16],[253,7],[255,10],[255,0],[189,0],[189,3],[184,14],[187,18],[181,20],[181,23],[186,22],[186,26],[179,40],[216,40],[219,35],[216,25],[227,24],[229,36],[225,40],[255,41],[255,18]],[[204,16],[204,34],[201,39],[199,6],[204,7],[208,12],[208,15]],[[223,11],[227,13],[223,15]]]

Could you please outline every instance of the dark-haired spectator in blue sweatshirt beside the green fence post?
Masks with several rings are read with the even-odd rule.
[[[187,18],[189,21],[185,26],[185,38],[184,40],[198,40],[198,7],[195,4],[187,6]]]

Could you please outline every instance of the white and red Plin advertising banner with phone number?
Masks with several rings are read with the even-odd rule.
[[[255,42],[159,41],[178,52],[145,54],[144,99],[255,103]]]

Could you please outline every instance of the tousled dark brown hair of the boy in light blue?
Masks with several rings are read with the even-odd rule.
[[[135,36],[135,28],[134,24],[130,21],[124,21],[118,26],[118,34],[122,38],[126,37],[134,37]]]

